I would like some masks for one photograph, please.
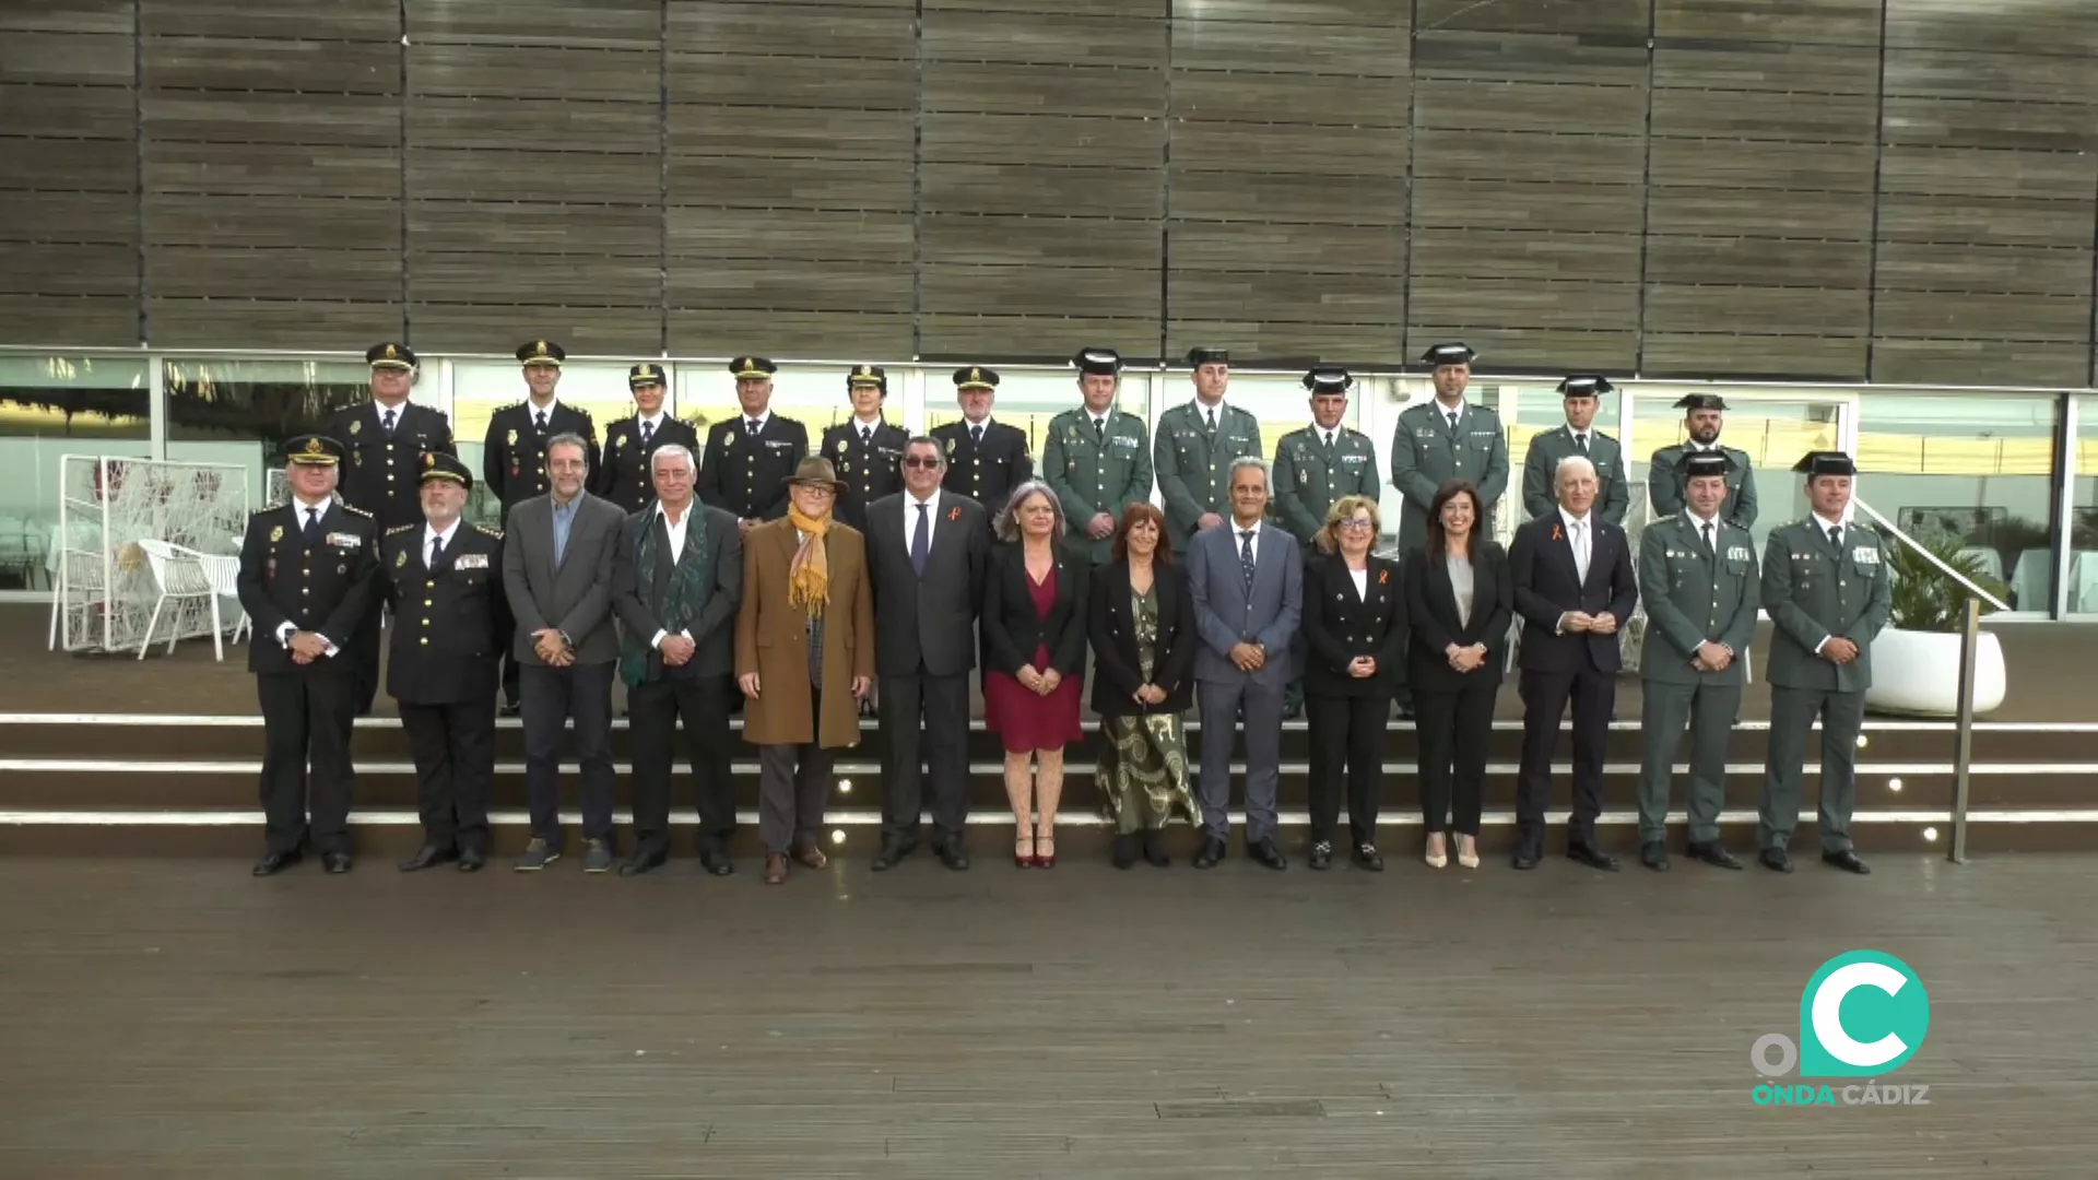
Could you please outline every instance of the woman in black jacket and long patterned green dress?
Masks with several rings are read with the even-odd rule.
[[[1114,559],[1093,575],[1093,712],[1099,714],[1099,804],[1114,821],[1114,867],[1166,867],[1164,825],[1202,815],[1187,779],[1183,714],[1194,703],[1194,598],[1173,563],[1166,519],[1131,504]]]

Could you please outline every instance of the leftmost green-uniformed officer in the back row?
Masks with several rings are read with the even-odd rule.
[[[1093,565],[1108,563],[1122,508],[1152,498],[1152,445],[1143,418],[1114,407],[1122,357],[1114,349],[1083,349],[1078,367],[1085,405],[1049,420],[1041,477],[1055,491],[1070,529],[1064,544]]]

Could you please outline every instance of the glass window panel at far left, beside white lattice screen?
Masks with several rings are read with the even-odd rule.
[[[0,357],[0,588],[52,586],[61,456],[149,458],[143,359]]]

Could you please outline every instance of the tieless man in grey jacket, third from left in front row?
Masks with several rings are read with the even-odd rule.
[[[504,544],[504,594],[516,615],[512,659],[520,668],[524,714],[524,787],[531,796],[531,844],[518,871],[560,859],[560,737],[575,722],[583,760],[583,871],[613,867],[613,554],[627,514],[583,491],[590,443],[554,435],[545,472],[554,491],[510,508]]]

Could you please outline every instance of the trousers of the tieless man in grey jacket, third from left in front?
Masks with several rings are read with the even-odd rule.
[[[613,840],[613,663],[520,668],[524,697],[524,794],[531,798],[531,834],[554,850],[560,831],[560,747],[575,722],[575,750],[583,764],[583,838]]]

